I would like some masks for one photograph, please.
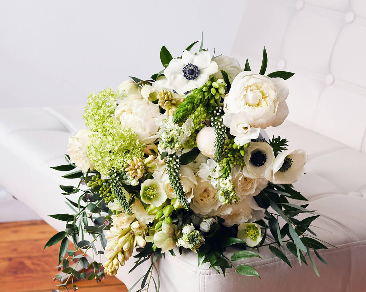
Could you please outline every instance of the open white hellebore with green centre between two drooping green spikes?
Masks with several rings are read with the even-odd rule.
[[[141,184],[141,200],[145,204],[160,207],[167,200],[163,185],[158,180],[148,179]]]

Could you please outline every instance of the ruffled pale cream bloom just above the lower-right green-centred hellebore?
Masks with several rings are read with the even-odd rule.
[[[225,219],[225,226],[233,226],[246,222],[255,222],[264,218],[266,210],[259,207],[253,197],[247,196],[241,199],[238,204],[228,204],[221,206],[216,212],[209,215],[217,215]]]

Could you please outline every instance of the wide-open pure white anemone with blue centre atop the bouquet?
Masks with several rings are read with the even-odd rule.
[[[209,80],[209,76],[219,71],[215,61],[207,51],[192,54],[184,51],[182,59],[172,59],[164,75],[169,85],[176,92],[182,94],[192,89],[201,87]]]

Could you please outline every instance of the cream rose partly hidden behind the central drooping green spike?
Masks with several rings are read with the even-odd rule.
[[[166,165],[158,166],[159,171],[153,173],[153,177],[155,180],[161,181],[163,185],[163,189],[167,194],[168,199],[176,198],[176,194],[170,184],[169,175],[167,173]],[[197,184],[196,177],[193,173],[193,170],[187,165],[181,165],[179,168],[179,177],[180,181],[183,185],[184,192],[186,193],[188,202],[190,202],[193,198],[193,189]]]

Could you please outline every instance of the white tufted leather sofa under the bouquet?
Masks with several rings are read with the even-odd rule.
[[[309,154],[295,187],[321,215],[314,231],[338,247],[322,250],[329,265],[315,260],[320,277],[292,254],[291,269],[266,248],[261,259],[245,261],[262,280],[198,268],[193,253],[167,254],[158,262],[160,291],[366,291],[365,26],[364,0],[249,0],[232,51],[259,70],[265,45],[267,73],[296,72],[288,80],[290,115],[267,132]],[[0,185],[57,230],[63,222],[47,215],[70,211],[58,187],[70,181],[49,166],[63,163],[68,135],[83,126],[82,111],[83,105],[0,109]],[[117,274],[127,287],[147,269],[128,274],[132,265]]]

